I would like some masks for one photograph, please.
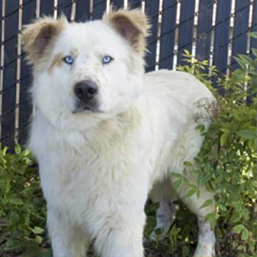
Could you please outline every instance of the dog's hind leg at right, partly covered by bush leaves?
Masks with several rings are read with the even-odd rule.
[[[185,175],[185,174],[184,174]],[[194,174],[186,175],[188,180],[197,185],[197,178]],[[198,198],[196,195],[185,198],[188,192],[188,187],[186,185],[181,185],[176,192],[180,200],[182,200],[192,213],[197,215],[198,218],[198,244],[194,254],[194,257],[214,257],[215,256],[215,234],[210,228],[209,222],[204,222],[207,214],[215,211],[215,200],[212,192],[206,190],[203,186],[200,188],[201,193]],[[200,208],[203,203],[212,199],[212,205],[204,208]]]

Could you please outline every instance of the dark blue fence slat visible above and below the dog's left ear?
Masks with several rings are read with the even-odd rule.
[[[36,17],[40,15],[40,0],[32,1],[26,3],[23,1],[22,8],[22,24],[29,24]],[[19,143],[21,145],[25,144],[28,136],[28,123],[30,120],[30,116],[33,111],[31,99],[29,99],[30,95],[28,94],[28,90],[32,84],[32,76],[31,76],[31,67],[27,65],[25,61],[25,54],[22,53],[21,59],[21,79],[20,79],[20,115],[19,115]]]

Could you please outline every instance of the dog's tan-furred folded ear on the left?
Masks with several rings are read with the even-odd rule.
[[[39,60],[53,39],[60,35],[67,24],[65,16],[61,16],[58,20],[43,17],[26,25],[22,31],[22,44],[27,60],[31,64]]]

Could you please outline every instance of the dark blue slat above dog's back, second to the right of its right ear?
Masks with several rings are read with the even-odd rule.
[[[159,68],[172,69],[177,0],[163,0],[162,12]]]

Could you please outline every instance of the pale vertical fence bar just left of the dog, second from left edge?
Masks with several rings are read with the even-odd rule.
[[[19,143],[22,4],[23,4],[23,0],[19,0],[18,39],[17,39],[18,44],[17,44],[17,62],[16,62],[17,66],[16,66],[14,144]]]

